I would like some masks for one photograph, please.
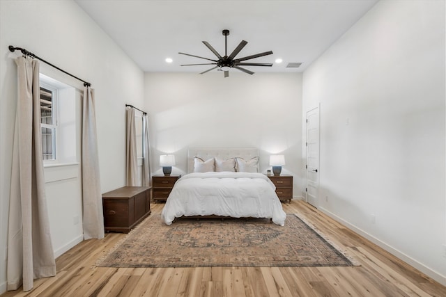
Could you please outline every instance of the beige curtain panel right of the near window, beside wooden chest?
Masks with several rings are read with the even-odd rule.
[[[84,88],[82,102],[82,202],[84,239],[104,238],[104,214],[98,161],[94,90]]]

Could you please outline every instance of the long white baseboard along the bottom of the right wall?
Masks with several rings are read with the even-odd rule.
[[[324,209],[323,207],[319,207],[318,210],[322,211],[324,214],[330,216],[331,218],[334,218],[334,220],[337,220],[339,223],[346,225],[346,227],[348,227],[349,229],[355,231],[357,234],[360,234],[361,236],[365,237],[366,239],[369,239],[369,241],[375,243],[380,248],[387,250],[387,252],[390,252],[392,255],[403,260],[410,266],[413,266],[414,268],[418,269],[422,273],[429,275],[430,278],[432,278],[433,280],[436,280],[437,282],[440,282],[440,284],[443,284],[443,286],[446,286],[446,276],[445,275],[441,275],[440,273],[433,271],[428,266],[425,266],[424,264],[418,262],[417,260],[413,259],[412,257],[404,254],[400,250],[397,250],[396,248],[389,246],[387,243],[380,241],[380,239],[377,239],[375,236],[365,232],[364,230],[356,227],[355,225],[352,225],[351,223],[348,223],[346,220],[339,218],[339,216],[333,214],[332,212],[328,211],[327,209]]]

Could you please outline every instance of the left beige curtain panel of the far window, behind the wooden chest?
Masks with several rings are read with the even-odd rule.
[[[137,132],[134,127],[134,109],[127,108],[127,148],[125,180],[127,186],[138,186]]]

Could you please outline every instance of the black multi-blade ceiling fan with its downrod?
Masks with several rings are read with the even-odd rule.
[[[232,53],[228,56],[227,55],[227,45],[226,45],[226,39],[227,36],[229,35],[229,30],[224,29],[222,31],[223,35],[224,35],[224,56],[221,56],[218,51],[216,51],[208,42],[203,41],[204,45],[206,45],[206,47],[208,47],[208,49],[210,49],[210,51],[212,51],[215,56],[217,56],[218,60],[213,60],[210,58],[203,58],[200,56],[194,56],[191,54],[185,54],[185,53],[178,53],[178,54],[182,54],[182,55],[186,55],[186,56],[192,56],[195,58],[202,58],[208,61],[213,61],[213,63],[201,63],[201,64],[183,64],[181,66],[195,66],[195,65],[215,65],[215,67],[212,67],[206,71],[201,72],[200,74],[209,72],[210,70],[214,70],[217,68],[217,70],[221,70],[224,71],[224,77],[229,77],[229,69],[231,68],[236,68],[238,70],[241,70],[243,72],[246,72],[247,74],[254,74],[254,72],[247,70],[243,67],[240,66],[272,66],[272,63],[244,63],[243,61],[249,60],[249,59],[253,59],[253,58],[259,58],[261,56],[268,56],[270,54],[272,54],[272,51],[265,51],[263,53],[260,54],[255,54],[252,56],[246,56],[243,58],[236,58],[237,54],[243,49],[243,47],[245,47],[245,45],[247,45],[247,41],[242,40],[240,42],[240,44],[238,45],[238,47],[236,47],[236,49],[234,49],[232,51]]]

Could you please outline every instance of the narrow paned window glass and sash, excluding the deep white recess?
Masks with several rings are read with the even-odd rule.
[[[42,152],[44,160],[56,160],[57,92],[40,87],[40,118],[42,123]]]

